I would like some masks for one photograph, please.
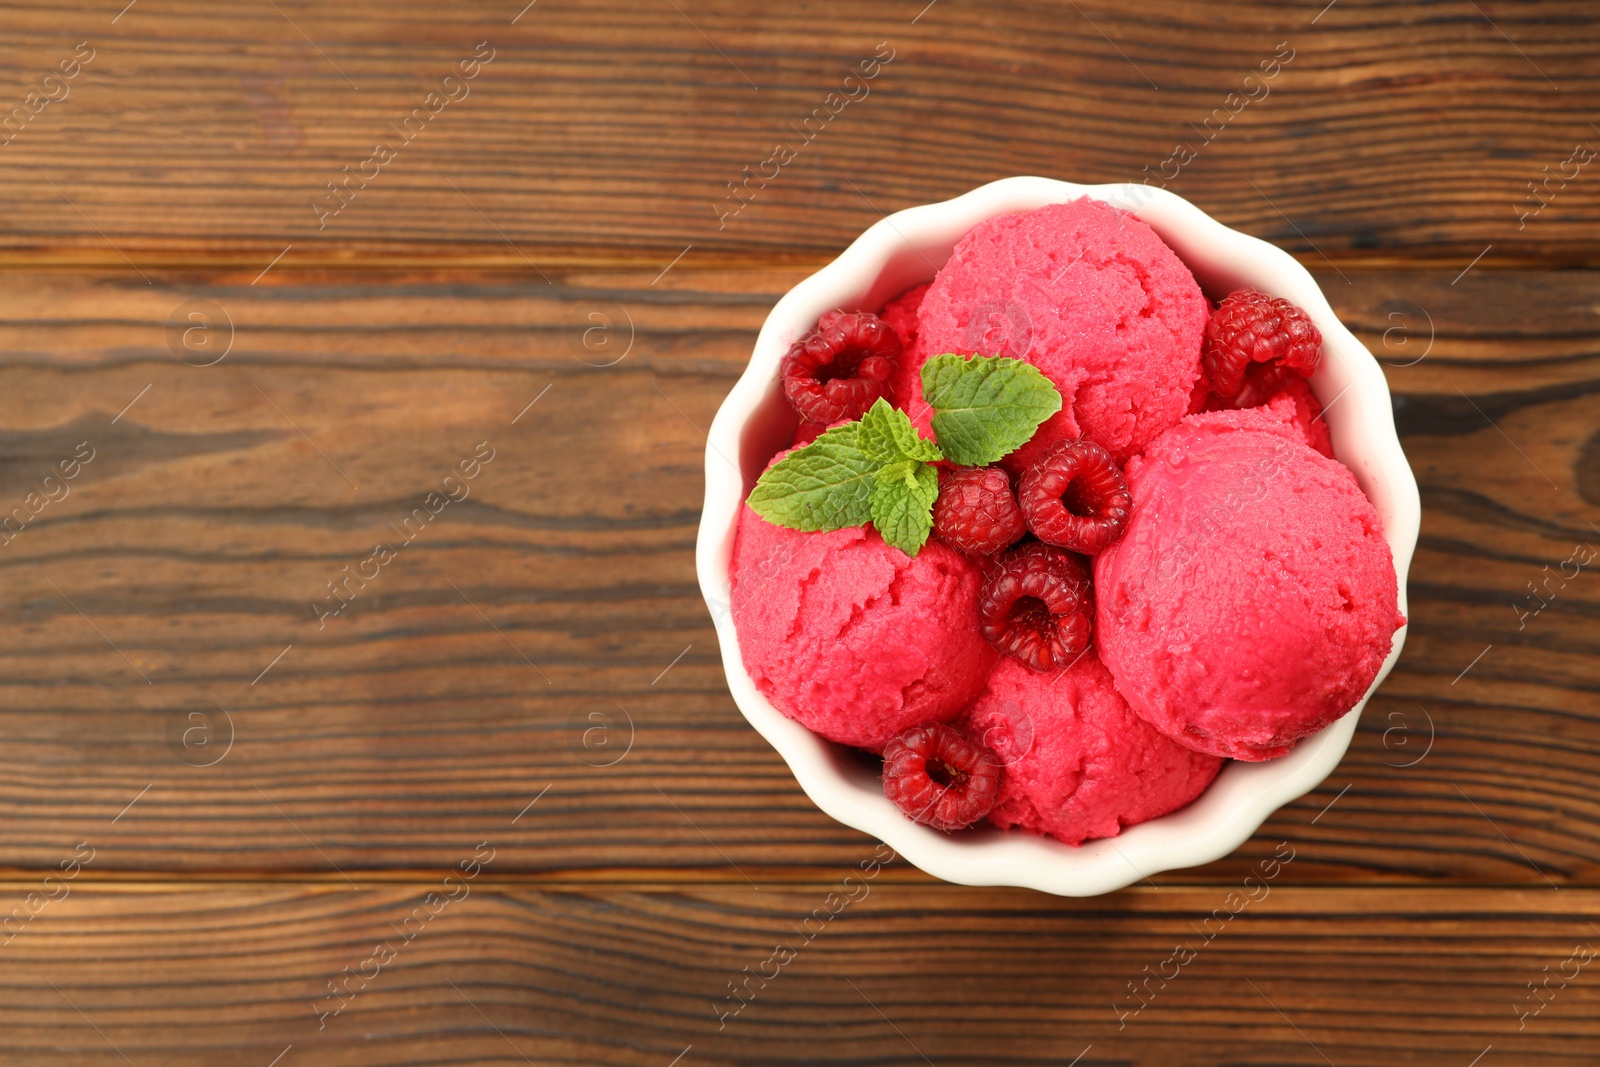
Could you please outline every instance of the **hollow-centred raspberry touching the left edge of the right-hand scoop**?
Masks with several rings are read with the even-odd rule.
[[[1083,438],[1053,446],[1018,490],[1027,528],[1040,541],[1094,555],[1128,528],[1133,494],[1104,448]]]

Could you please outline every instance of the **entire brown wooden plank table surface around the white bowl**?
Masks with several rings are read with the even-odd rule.
[[[125,2],[0,13],[0,1064],[1600,1062],[1592,5]],[[704,430],[1024,173],[1317,274],[1410,640],[1224,861],[802,926],[877,843],[728,697]]]

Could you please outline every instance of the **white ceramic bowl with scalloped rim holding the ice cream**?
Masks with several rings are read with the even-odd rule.
[[[750,365],[723,402],[706,448],[706,510],[696,569],[722,641],[733,699],[750,725],[787,760],[818,808],[882,838],[928,873],[962,885],[1013,885],[1061,896],[1120,889],[1158,870],[1219,859],[1245,841],[1280,805],[1315,789],[1339,763],[1366,699],[1293,752],[1266,763],[1230,761],[1211,787],[1182,811],[1136,825],[1120,837],[1080,848],[992,827],[957,835],[907,819],[883,795],[877,774],[842,745],[784,718],[744,670],[728,613],[728,561],[746,486],[789,445],[795,416],[778,387],[778,363],[789,346],[830,309],[877,310],[912,285],[933,278],[966,230],[982,219],[1078,197],[1131,210],[1162,235],[1194,270],[1213,301],[1254,286],[1299,304],[1323,338],[1323,362],[1312,389],[1328,406],[1334,454],[1373,501],[1394,550],[1400,609],[1416,549],[1421,502],[1416,480],[1395,435],[1389,386],[1373,355],[1334,317],[1322,290],[1288,253],[1230,230],[1187,200],[1149,186],[1075,186],[1048,178],[1006,178],[973,192],[907,208],[885,218],[834,262],[792,288],[766,317]],[[1400,656],[1405,630],[1373,688]],[[1368,691],[1368,696],[1371,693]]]

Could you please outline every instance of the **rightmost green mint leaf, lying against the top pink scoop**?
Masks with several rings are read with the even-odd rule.
[[[922,365],[922,395],[939,448],[965,467],[1016,451],[1061,411],[1061,394],[1037,366],[1003,355],[936,355]]]

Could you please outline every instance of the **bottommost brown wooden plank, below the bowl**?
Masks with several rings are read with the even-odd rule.
[[[3,950],[0,1064],[1592,1062],[1600,894],[1296,886],[1314,849],[1243,904],[896,886],[870,848],[760,889],[66,883]]]

